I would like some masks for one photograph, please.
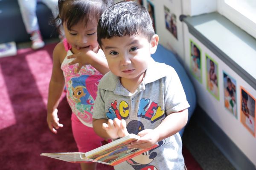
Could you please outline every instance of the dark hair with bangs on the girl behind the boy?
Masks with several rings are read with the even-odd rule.
[[[113,0],[58,0],[59,15],[55,18],[55,23],[66,22],[67,29],[80,21],[86,25],[89,20],[98,21],[101,14],[113,5]],[[61,22],[59,22],[61,21]]]

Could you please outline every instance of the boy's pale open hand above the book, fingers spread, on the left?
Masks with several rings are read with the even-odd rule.
[[[106,130],[111,139],[122,138],[129,134],[126,129],[126,122],[124,119],[109,119],[108,124],[102,124],[102,128]]]

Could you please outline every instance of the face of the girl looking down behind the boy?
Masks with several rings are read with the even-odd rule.
[[[64,22],[63,28],[67,42],[72,45],[73,53],[82,48],[89,48],[94,52],[98,50],[96,20],[88,21],[86,26],[84,22],[79,22],[72,26],[70,30],[67,29],[66,22]]]

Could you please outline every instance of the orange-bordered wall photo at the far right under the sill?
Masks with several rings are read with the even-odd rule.
[[[244,127],[255,137],[255,101],[241,86],[241,110],[240,120]]]

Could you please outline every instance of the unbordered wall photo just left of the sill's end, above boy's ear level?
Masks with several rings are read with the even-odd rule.
[[[177,37],[177,17],[174,13],[171,13],[170,9],[166,6],[164,8],[166,29],[178,40]]]

